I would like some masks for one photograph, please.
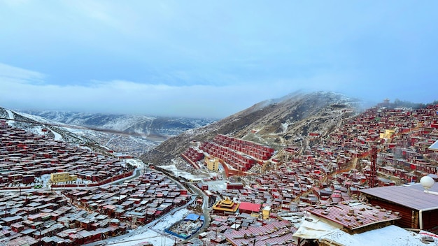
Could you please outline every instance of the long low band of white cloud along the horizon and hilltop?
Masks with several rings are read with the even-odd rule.
[[[307,78],[229,83],[165,85],[127,80],[90,80],[87,85],[52,85],[48,76],[0,64],[0,106],[15,110],[72,110],[91,113],[226,117],[265,99],[299,89],[330,90],[347,96],[374,95],[375,88],[357,85],[360,73],[318,73]],[[380,101],[386,92],[377,94]],[[397,96],[397,95],[394,95]],[[369,97],[367,99],[370,99]]]

